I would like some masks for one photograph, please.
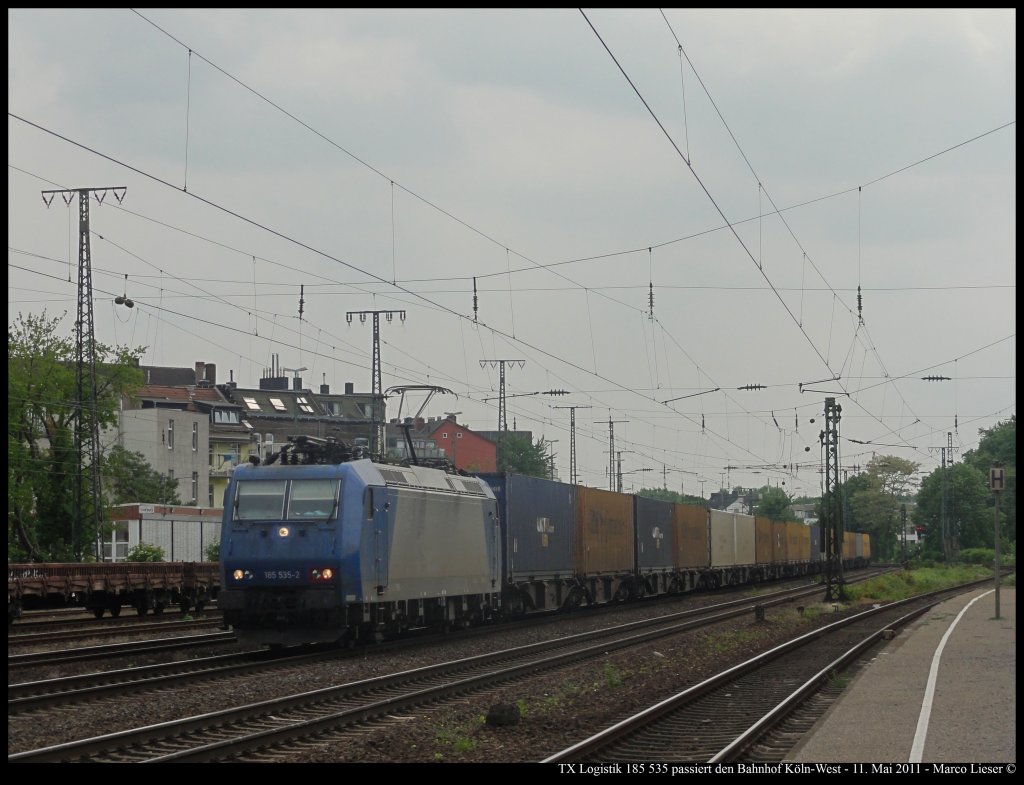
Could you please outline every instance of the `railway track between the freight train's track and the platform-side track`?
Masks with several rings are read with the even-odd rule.
[[[82,739],[10,755],[10,761],[151,761],[276,759],[301,740],[353,728],[414,706],[496,685],[528,681],[534,674],[609,651],[676,636],[727,618],[749,615],[757,606],[786,603],[820,593],[819,585],[745,598],[712,609],[667,614],[487,655],[431,665],[387,677],[330,687],[282,699],[163,723],[158,726]]]

